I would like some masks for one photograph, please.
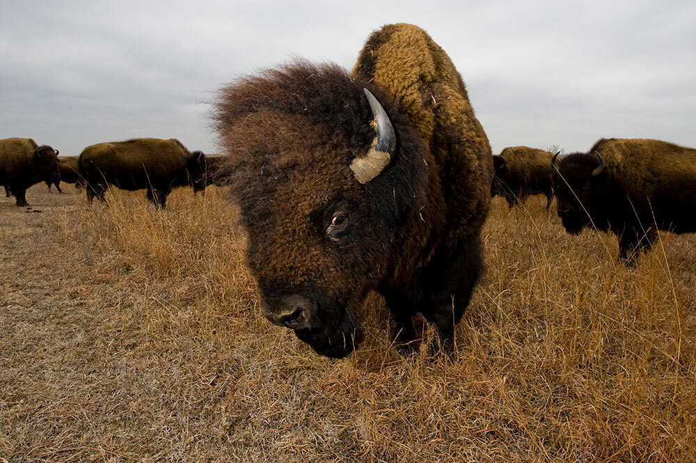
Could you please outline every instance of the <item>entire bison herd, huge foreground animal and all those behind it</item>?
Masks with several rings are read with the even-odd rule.
[[[372,33],[352,72],[296,61],[221,89],[214,122],[224,155],[175,139],[88,146],[58,157],[31,139],[0,141],[0,183],[17,205],[45,181],[169,192],[231,185],[248,231],[247,262],[264,315],[319,354],[346,356],[363,339],[367,294],[383,295],[400,350],[418,345],[413,316],[453,348],[454,326],[484,267],[491,196],[510,207],[544,194],[571,234],[619,238],[632,264],[657,230],[696,232],[696,150],[649,139],[601,139],[560,156],[516,146],[492,155],[466,87],[425,31]]]

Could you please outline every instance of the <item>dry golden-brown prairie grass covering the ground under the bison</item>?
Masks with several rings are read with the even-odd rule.
[[[453,359],[374,295],[332,361],[262,316],[223,190],[65,191],[0,198],[0,462],[696,461],[696,235],[627,269],[496,198]]]

